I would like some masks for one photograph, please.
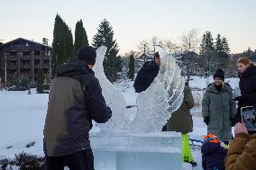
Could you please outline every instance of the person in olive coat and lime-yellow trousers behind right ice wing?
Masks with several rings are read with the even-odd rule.
[[[194,161],[192,156],[187,135],[187,133],[193,131],[193,121],[192,115],[190,114],[190,109],[192,109],[195,105],[191,89],[188,86],[188,82],[185,83],[183,93],[183,102],[181,103],[178,110],[171,114],[171,117],[167,122],[167,131],[176,131],[181,133],[182,161],[185,163],[190,163],[192,166],[197,166],[197,162]]]

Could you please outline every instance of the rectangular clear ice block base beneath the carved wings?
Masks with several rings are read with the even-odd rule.
[[[96,170],[179,170],[181,136],[174,132],[92,134]]]

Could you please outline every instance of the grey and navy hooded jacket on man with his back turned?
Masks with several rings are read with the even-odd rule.
[[[103,123],[110,117],[94,72],[85,61],[72,58],[58,68],[50,85],[43,130],[46,156],[67,156],[90,149],[92,120]]]

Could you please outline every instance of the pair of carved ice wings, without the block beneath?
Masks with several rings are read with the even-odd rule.
[[[175,59],[159,46],[155,48],[160,53],[160,72],[151,86],[138,95],[138,110],[133,121],[125,115],[126,104],[123,95],[105,77],[103,60],[106,48],[100,47],[96,50],[94,70],[102,87],[105,102],[113,112],[110,121],[99,124],[101,130],[135,133],[160,131],[171,113],[182,103],[185,79],[181,76]]]

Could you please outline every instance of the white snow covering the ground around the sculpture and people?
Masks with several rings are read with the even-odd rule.
[[[189,82],[191,87],[206,88],[206,79],[193,76]],[[210,82],[213,78],[209,78]],[[237,78],[226,79],[226,82],[234,88],[238,86]],[[134,93],[133,81],[120,81],[115,84],[122,92],[127,105],[136,105],[137,94]],[[200,100],[203,91],[193,91],[197,107],[191,112],[194,121],[194,131],[189,134],[191,139],[202,139],[206,135],[206,125],[201,116]],[[24,92],[0,91],[0,160],[13,158],[15,154],[26,152],[33,155],[43,156],[42,130],[47,112],[48,94],[32,94]],[[136,107],[131,107],[127,112],[133,119]],[[27,148],[26,145],[34,142],[34,146]],[[195,160],[201,162],[200,148],[193,147]],[[197,166],[200,169],[200,165]]]

